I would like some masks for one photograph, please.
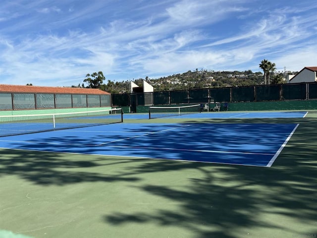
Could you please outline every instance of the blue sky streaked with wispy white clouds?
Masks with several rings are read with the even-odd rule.
[[[315,0],[0,0],[0,84],[317,66]]]

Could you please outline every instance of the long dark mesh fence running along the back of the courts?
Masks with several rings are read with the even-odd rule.
[[[136,106],[305,100],[317,99],[317,83],[113,94],[111,97],[112,106],[131,106],[134,111]]]

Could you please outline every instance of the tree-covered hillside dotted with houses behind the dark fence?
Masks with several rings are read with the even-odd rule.
[[[287,72],[291,73],[291,72]],[[271,84],[283,83],[285,81],[284,73],[271,73]],[[246,71],[213,71],[198,70],[187,71],[185,73],[173,74],[166,77],[150,79],[133,79],[135,84],[142,86],[143,80],[154,87],[154,91],[172,91],[201,88],[220,88],[235,86],[250,86],[264,84],[262,72]],[[79,85],[78,85],[79,86]],[[84,85],[83,85],[84,86]],[[111,94],[129,93],[130,81],[113,82],[108,80],[106,84],[101,85],[101,89]]]

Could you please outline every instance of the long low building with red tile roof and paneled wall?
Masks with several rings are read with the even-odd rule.
[[[111,94],[93,88],[0,84],[0,111],[92,107],[111,107]]]

